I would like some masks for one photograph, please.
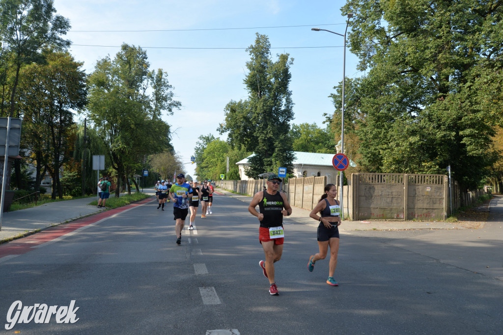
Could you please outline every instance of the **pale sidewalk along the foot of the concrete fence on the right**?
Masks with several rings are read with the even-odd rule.
[[[216,189],[226,196],[234,197],[243,202],[250,203],[253,197],[235,194],[220,188]],[[311,212],[308,209],[292,206],[292,215],[285,219],[292,219],[306,225],[318,227],[318,222],[309,217]],[[251,215],[251,214],[250,214]],[[443,222],[443,221],[400,221],[400,220],[363,220],[363,221],[343,221],[339,226],[339,231],[369,231],[369,230],[411,230],[411,229],[476,229],[482,228],[484,222]]]

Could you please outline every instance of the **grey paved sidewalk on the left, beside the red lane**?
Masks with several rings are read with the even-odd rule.
[[[144,189],[144,193],[154,195],[154,191]],[[121,193],[124,195],[126,193]],[[4,213],[0,243],[36,233],[49,227],[58,226],[89,216],[105,209],[89,203],[98,197],[48,202],[40,206]]]

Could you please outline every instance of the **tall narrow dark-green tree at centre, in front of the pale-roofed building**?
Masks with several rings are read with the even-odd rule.
[[[288,136],[293,119],[293,102],[289,84],[290,66],[293,59],[288,54],[271,57],[271,44],[266,35],[257,33],[255,44],[246,51],[248,73],[243,82],[248,91],[246,100],[230,101],[225,107],[225,123],[220,134],[228,132],[232,147],[255,152],[249,160],[246,175],[257,178],[258,174],[286,167],[293,171],[292,141]]]

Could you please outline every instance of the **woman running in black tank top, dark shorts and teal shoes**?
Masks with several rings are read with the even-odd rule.
[[[318,247],[319,253],[309,257],[307,269],[312,272],[314,264],[320,259],[325,259],[330,246],[330,261],[328,262],[328,279],[326,283],[338,286],[333,279],[333,273],[337,267],[337,254],[339,252],[339,226],[341,226],[341,207],[337,197],[337,187],[334,184],[327,184],[325,193],[319,199],[318,204],[313,208],[309,216],[319,221],[318,225]],[[319,215],[318,215],[319,213]]]

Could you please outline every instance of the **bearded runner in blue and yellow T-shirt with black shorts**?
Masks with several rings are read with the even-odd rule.
[[[185,219],[189,213],[189,197],[193,196],[192,187],[185,182],[183,173],[177,176],[177,183],[170,189],[170,198],[173,200],[173,214],[175,215],[175,234],[177,235],[177,244],[182,243],[182,231],[185,226]]]

